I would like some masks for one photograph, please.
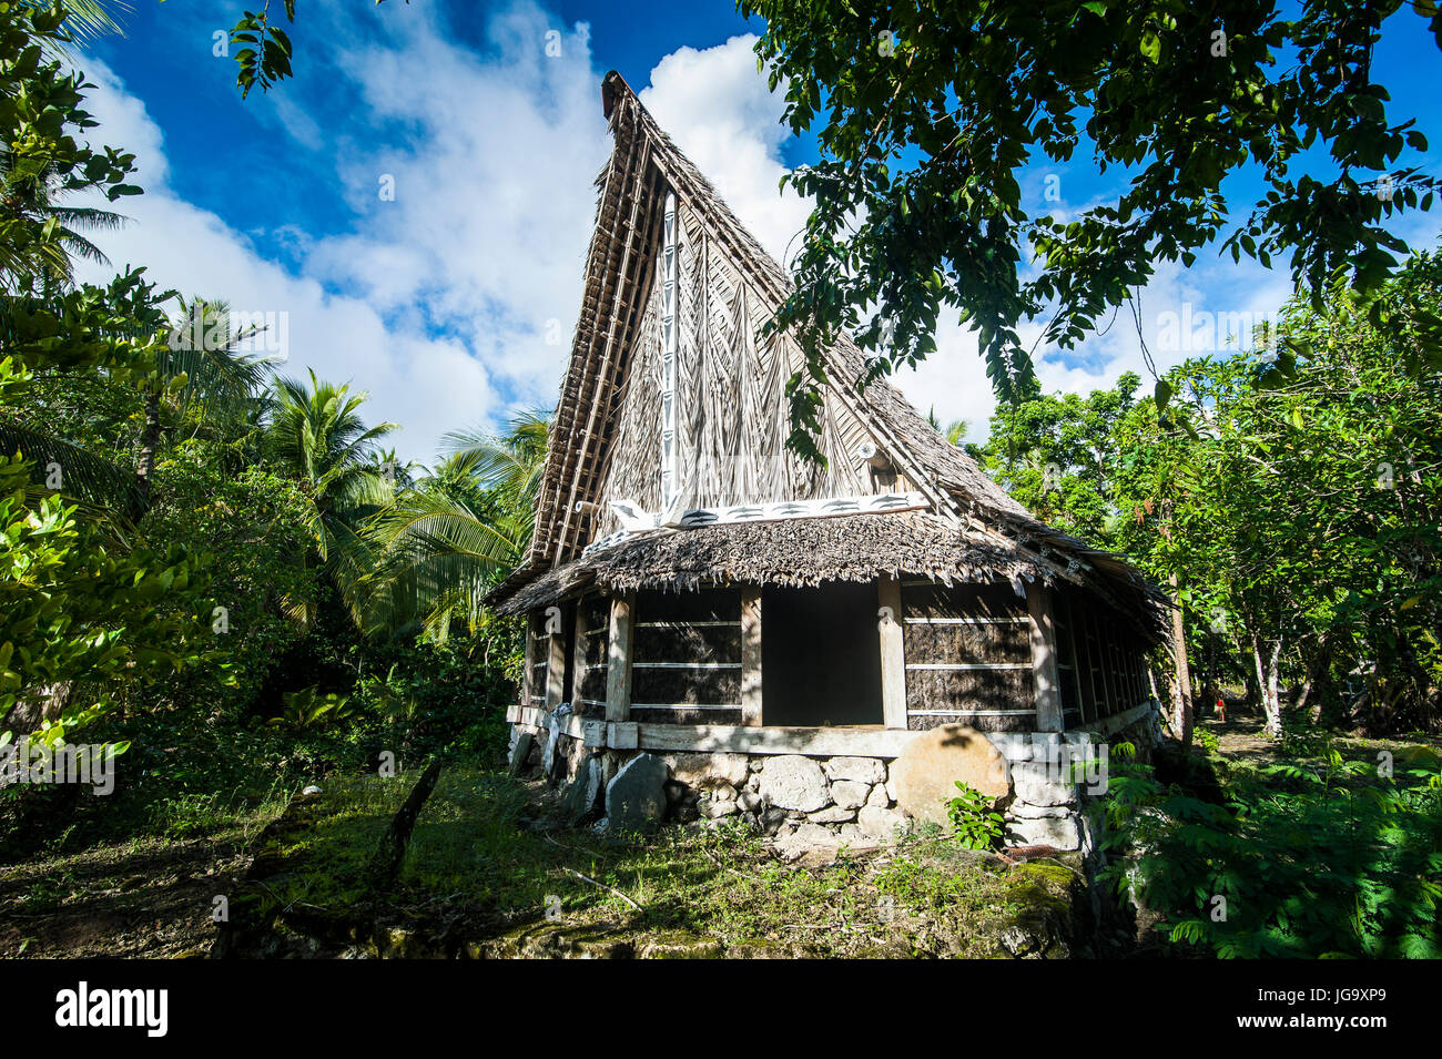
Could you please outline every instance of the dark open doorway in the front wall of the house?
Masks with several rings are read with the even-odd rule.
[[[881,725],[877,586],[761,591],[766,725]]]

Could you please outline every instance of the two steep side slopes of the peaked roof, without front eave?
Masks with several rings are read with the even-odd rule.
[[[510,599],[548,571],[555,571],[547,579],[552,588],[574,581],[555,568],[574,562],[587,533],[594,529],[596,513],[578,501],[596,499],[614,435],[627,357],[642,326],[643,303],[656,280],[668,193],[701,219],[708,239],[771,308],[792,290],[784,269],[746,231],[614,71],[603,81],[601,98],[614,146],[597,179],[600,200],[587,254],[581,313],[551,431],[531,550],[525,563],[493,592],[492,599],[497,602]],[[1092,563],[1097,563],[1109,568],[1097,571],[1107,579],[1119,578],[1131,582],[1128,588],[1151,595],[1152,589],[1126,563],[1032,519],[888,382],[874,380],[857,395],[849,383],[865,375],[867,362],[849,337],[842,336],[828,350],[826,372],[832,380],[828,399],[842,402],[864,424],[933,511],[1005,552],[1019,549],[1040,562],[1038,569],[1092,569]],[[774,530],[771,533],[774,536]],[[1043,560],[1043,549],[1058,552],[1061,562]],[[536,592],[523,595],[539,598]],[[516,607],[512,604],[506,609]]]

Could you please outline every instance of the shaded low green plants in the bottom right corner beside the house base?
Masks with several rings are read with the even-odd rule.
[[[1438,958],[1436,765],[1283,758],[1229,777],[1226,805],[1113,765],[1106,869],[1175,947],[1218,957]]]

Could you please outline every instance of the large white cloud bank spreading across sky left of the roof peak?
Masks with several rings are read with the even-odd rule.
[[[492,17],[490,52],[477,55],[451,42],[434,12],[405,14],[384,45],[320,37],[339,42],[358,112],[375,128],[398,121],[410,135],[382,150],[340,137],[326,144],[359,215],[350,232],[255,229],[297,271],[177,196],[144,104],[98,59],[87,56],[85,71],[98,85],[88,102],[97,138],[134,151],[146,187],[123,200],[131,223],[97,238],[114,267],[146,265],[162,285],[225,298],[236,311],[284,313],[280,370],[313,367],[369,390],[368,418],[402,424],[401,454],[431,461],[447,429],[496,425],[512,406],[555,401],[609,144],[584,26],[567,30],[562,56],[549,58],[545,33],[559,23],[521,3]],[[296,121],[297,91],[287,84],[252,104],[278,102],[274,124],[314,148],[324,134]],[[382,174],[394,177],[394,202],[378,195]],[[108,269],[85,278],[102,281]],[[548,324],[558,344],[545,344]]]

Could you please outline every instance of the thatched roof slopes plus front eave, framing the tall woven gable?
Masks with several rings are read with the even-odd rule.
[[[1120,559],[1035,522],[900,390],[851,383],[865,356],[845,336],[828,352],[832,393],[864,424],[934,514],[867,514],[658,530],[581,556],[620,402],[620,380],[642,321],[669,193],[705,219],[727,258],[779,304],[790,292],[784,269],[761,249],[616,72],[601,95],[614,148],[597,186],[596,232],[571,363],[547,454],[535,535],[522,566],[493,594],[508,612],[544,605],[583,585],[620,591],[702,581],[816,584],[914,573],[943,581],[1056,576],[1086,584],[1115,605],[1149,608],[1159,594]],[[581,504],[584,509],[585,506]],[[1151,622],[1146,622],[1151,624]]]

